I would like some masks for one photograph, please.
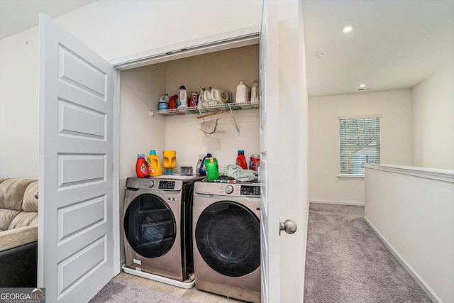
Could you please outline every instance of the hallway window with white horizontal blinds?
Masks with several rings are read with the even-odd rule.
[[[341,175],[364,175],[364,163],[380,164],[380,117],[339,121]]]

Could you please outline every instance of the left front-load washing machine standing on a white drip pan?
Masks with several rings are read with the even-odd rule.
[[[192,197],[201,177],[163,175],[126,180],[124,202],[125,265],[133,275],[190,288]]]

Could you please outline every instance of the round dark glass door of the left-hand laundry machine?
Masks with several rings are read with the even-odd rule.
[[[126,209],[124,228],[131,248],[145,258],[165,255],[177,235],[170,207],[154,194],[140,194],[133,199]]]

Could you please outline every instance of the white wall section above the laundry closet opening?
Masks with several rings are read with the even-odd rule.
[[[107,60],[260,26],[261,0],[99,0],[57,22]]]

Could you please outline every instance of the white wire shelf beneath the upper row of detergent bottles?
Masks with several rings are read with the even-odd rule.
[[[160,111],[150,111],[150,116],[155,114],[161,115],[179,115],[179,114],[204,114],[214,111],[231,111],[239,109],[258,109],[260,107],[260,101],[256,102],[242,102],[242,103],[223,103],[206,105],[199,107],[184,107],[179,109],[162,109]]]

